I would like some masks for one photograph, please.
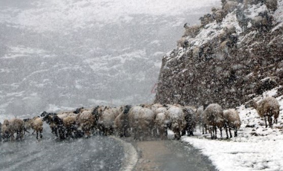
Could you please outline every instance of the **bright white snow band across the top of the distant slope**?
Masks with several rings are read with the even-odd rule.
[[[198,14],[202,8],[219,5],[218,0],[179,1],[40,1],[32,5],[36,8],[20,11],[15,7],[0,8],[0,21],[14,27],[33,27],[38,32],[60,31],[67,34],[70,30],[86,27],[102,28],[107,24],[129,23],[136,15],[172,16],[181,15],[188,10]],[[182,7],[182,8],[180,8]],[[10,15],[10,14],[13,15]],[[95,22],[96,24],[92,24]],[[183,25],[183,21],[172,26]]]

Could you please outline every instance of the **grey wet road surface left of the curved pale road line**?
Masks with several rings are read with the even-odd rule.
[[[43,134],[0,145],[0,170],[119,170],[123,146],[110,137],[59,141]]]

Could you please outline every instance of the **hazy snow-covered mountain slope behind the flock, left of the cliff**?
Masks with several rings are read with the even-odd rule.
[[[0,1],[0,115],[151,102],[161,54],[220,1]]]

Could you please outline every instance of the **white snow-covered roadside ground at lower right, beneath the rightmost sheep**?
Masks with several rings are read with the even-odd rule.
[[[276,97],[277,89],[265,92],[263,97]],[[259,101],[263,97],[254,100]],[[182,137],[182,141],[200,149],[219,170],[283,170],[283,96],[276,99],[280,114],[273,129],[265,128],[263,118],[254,108],[241,105],[236,108],[241,118],[237,138],[210,140],[209,134],[201,135],[197,130],[195,137]],[[226,137],[225,131],[223,137]]]

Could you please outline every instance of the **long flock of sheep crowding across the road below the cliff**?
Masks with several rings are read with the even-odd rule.
[[[272,127],[272,117],[277,122],[279,116],[279,104],[273,97],[267,97],[256,103],[249,101],[246,107],[257,109],[260,117],[266,118]],[[59,139],[90,137],[95,133],[100,135],[116,135],[120,137],[133,136],[134,140],[148,140],[150,138],[167,138],[167,130],[174,133],[174,139],[179,140],[181,136],[193,136],[196,125],[202,127],[202,134],[207,130],[211,139],[217,138],[217,128],[225,129],[227,139],[228,130],[232,138],[237,137],[237,130],[241,125],[239,114],[234,109],[223,110],[219,104],[210,104],[205,109],[203,106],[195,108],[192,106],[181,106],[179,104],[161,105],[144,104],[138,106],[97,106],[91,109],[78,108],[75,111],[58,113],[43,112],[41,116],[32,119],[12,118],[0,123],[0,140],[14,141],[16,138],[22,140],[25,132],[32,129],[37,133],[37,139],[42,138],[43,122],[49,124],[52,134]]]

